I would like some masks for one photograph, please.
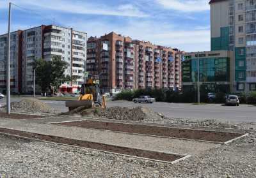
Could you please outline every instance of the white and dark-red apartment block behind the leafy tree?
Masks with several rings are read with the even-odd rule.
[[[0,41],[2,38],[4,41],[4,36],[7,35],[0,36]],[[15,75],[16,78],[11,79],[11,82],[17,82],[17,85],[11,86],[13,93],[31,93],[33,91],[33,62],[40,58],[49,61],[53,57],[60,57],[68,63],[65,75],[76,76],[77,80],[61,85],[63,92],[72,92],[83,84],[86,65],[86,33],[74,31],[72,28],[42,25],[24,31],[17,31],[12,33],[11,37],[11,48],[13,47],[11,49],[11,60],[13,53],[15,54],[13,55],[13,61],[16,61],[15,73],[14,70],[11,70],[11,77]],[[1,47],[1,42],[0,51],[7,52],[5,45]],[[6,56],[2,58],[3,63],[5,63]],[[5,78],[6,70],[5,68],[1,70],[0,72],[3,75],[0,76]],[[6,85],[5,79],[1,82]],[[4,89],[5,87],[1,88],[2,91]]]

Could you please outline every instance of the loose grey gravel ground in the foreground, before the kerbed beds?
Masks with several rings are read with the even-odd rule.
[[[175,165],[0,136],[6,177],[256,177],[256,134]]]

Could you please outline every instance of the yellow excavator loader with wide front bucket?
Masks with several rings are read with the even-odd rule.
[[[78,107],[106,108],[106,96],[100,94],[99,84],[96,84],[96,81],[90,78],[86,84],[82,84],[79,99],[77,101],[66,101],[66,107],[69,111]]]

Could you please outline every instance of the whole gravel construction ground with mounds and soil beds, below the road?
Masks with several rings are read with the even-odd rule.
[[[6,177],[256,176],[253,123],[168,118],[143,106],[58,113],[29,98],[11,107],[0,112]]]

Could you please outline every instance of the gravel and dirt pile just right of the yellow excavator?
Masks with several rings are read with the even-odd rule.
[[[111,107],[106,110],[97,110],[95,115],[98,117],[127,120],[127,121],[161,121],[163,116],[157,114],[147,107]]]

